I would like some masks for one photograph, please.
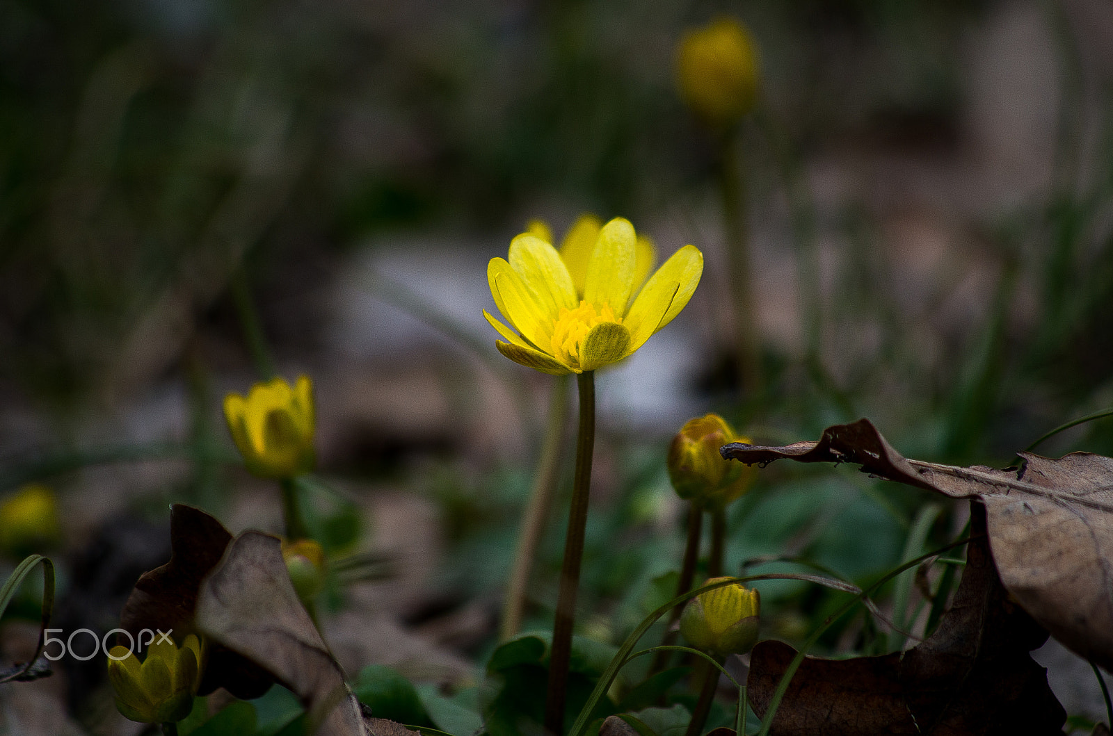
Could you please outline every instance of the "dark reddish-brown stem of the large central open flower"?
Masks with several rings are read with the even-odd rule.
[[[553,736],[564,732],[564,699],[568,667],[572,656],[572,626],[575,623],[575,595],[580,587],[583,536],[588,526],[588,499],[591,493],[591,455],[595,445],[595,374],[585,370],[577,376],[580,390],[580,429],[575,438],[575,478],[564,561],[560,568],[560,594],[553,623],[552,653],[549,657],[549,689],[545,695],[545,730]]]

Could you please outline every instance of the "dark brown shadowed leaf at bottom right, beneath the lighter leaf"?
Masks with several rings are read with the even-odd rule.
[[[1066,713],[1028,655],[1047,633],[1011,603],[972,503],[973,538],[962,583],[938,628],[908,652],[880,657],[806,657],[777,709],[772,733],[1005,736],[1061,734]],[[762,641],[750,655],[749,694],[765,716],[796,650]]]

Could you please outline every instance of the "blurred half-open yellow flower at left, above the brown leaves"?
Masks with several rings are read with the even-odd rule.
[[[282,378],[255,384],[245,399],[229,394],[224,416],[248,470],[264,478],[292,478],[313,467],[313,382],[290,388]]]

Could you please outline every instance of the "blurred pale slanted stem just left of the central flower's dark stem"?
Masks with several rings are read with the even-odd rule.
[[[545,430],[544,446],[538,460],[538,471],[533,478],[533,489],[530,500],[522,514],[522,530],[518,536],[518,549],[514,551],[514,564],[506,583],[506,597],[502,607],[502,629],[499,638],[505,641],[518,635],[522,627],[522,614],[525,609],[525,588],[530,581],[533,558],[552,506],[553,489],[556,487],[556,468],[563,450],[564,419],[568,414],[568,376],[560,376],[553,382],[549,399],[549,427]]]

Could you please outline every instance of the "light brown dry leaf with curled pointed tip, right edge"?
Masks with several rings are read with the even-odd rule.
[[[1113,670],[1113,458],[1021,452],[1023,467],[1005,470],[924,463],[893,449],[868,419],[828,427],[818,442],[735,442],[721,452],[746,464],[854,463],[887,480],[981,499],[1005,588],[1056,639]]]

